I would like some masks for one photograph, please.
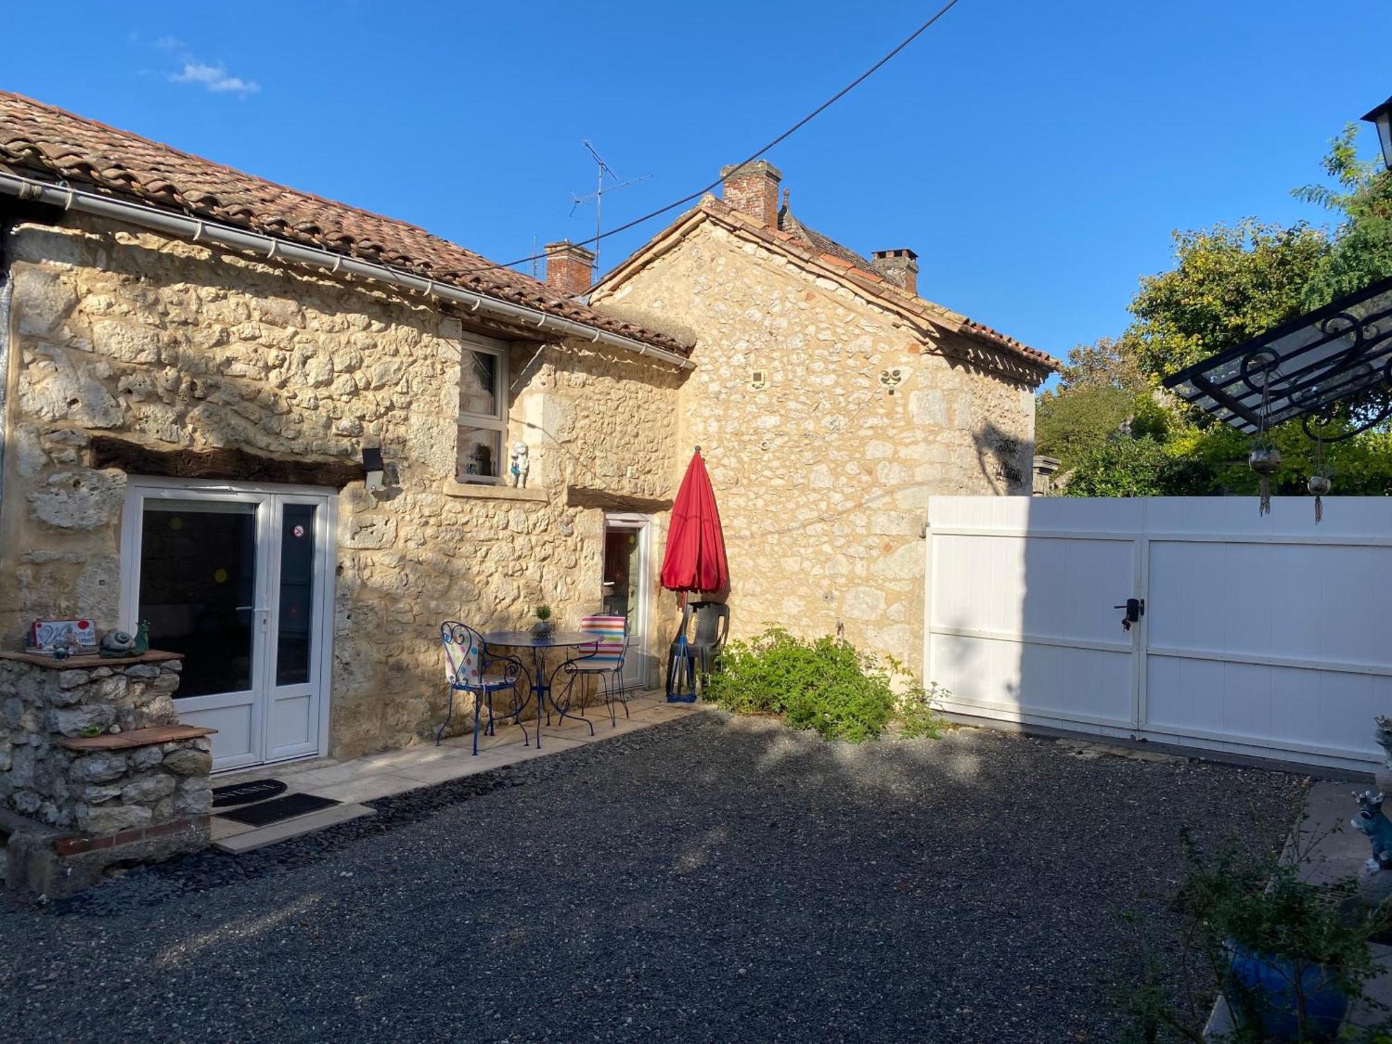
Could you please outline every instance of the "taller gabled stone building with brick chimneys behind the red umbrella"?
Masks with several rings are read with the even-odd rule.
[[[820,635],[916,668],[933,494],[1027,494],[1034,390],[1057,369],[803,224],[760,160],[614,269],[590,302],[696,338],[678,444],[710,465],[735,633]]]

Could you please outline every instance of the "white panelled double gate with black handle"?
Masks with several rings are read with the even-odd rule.
[[[1366,770],[1392,498],[935,497],[924,677],[958,714]],[[1125,631],[1128,599],[1144,607]]]

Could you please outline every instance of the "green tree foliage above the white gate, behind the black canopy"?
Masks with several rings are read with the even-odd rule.
[[[1144,277],[1116,338],[1079,345],[1059,388],[1038,400],[1036,444],[1061,458],[1070,496],[1249,494],[1250,438],[1160,390],[1176,370],[1392,276],[1392,175],[1357,157],[1357,127],[1331,142],[1328,182],[1296,196],[1339,216],[1332,230],[1244,219],[1175,232],[1175,266]],[[1271,433],[1285,459],[1276,493],[1317,469],[1343,494],[1392,494],[1392,434],[1318,450],[1299,423]]]

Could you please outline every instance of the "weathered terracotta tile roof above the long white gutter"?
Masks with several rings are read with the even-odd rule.
[[[110,195],[252,228],[529,305],[681,355],[689,345],[578,301],[557,296],[530,276],[491,262],[425,228],[298,192],[252,174],[0,92],[0,167],[81,182]]]

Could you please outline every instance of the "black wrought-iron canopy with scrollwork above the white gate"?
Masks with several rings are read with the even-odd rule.
[[[1249,434],[1299,419],[1336,441],[1392,416],[1392,278],[1282,323],[1164,386]]]

